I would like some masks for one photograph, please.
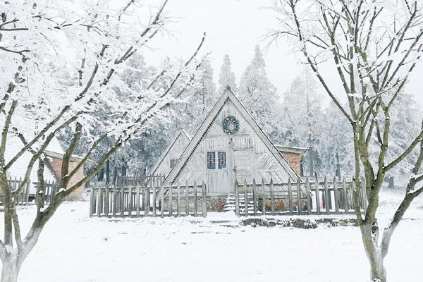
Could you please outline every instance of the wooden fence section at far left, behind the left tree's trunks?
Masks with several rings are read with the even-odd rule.
[[[22,183],[22,178],[9,178],[8,187],[11,191],[17,190],[19,185]],[[56,181],[45,181],[44,182],[44,195],[45,203],[49,204],[54,197],[56,196],[57,188],[59,184]],[[35,192],[37,190],[37,183],[30,183],[29,181],[25,184],[22,192],[20,192],[17,203],[21,205],[25,204],[35,204],[37,198],[35,197]],[[1,195],[1,204],[3,204],[3,195]]]

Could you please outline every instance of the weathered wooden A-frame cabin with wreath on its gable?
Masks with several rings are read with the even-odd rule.
[[[192,137],[165,183],[206,183],[208,193],[233,192],[235,179],[297,181],[298,173],[248,114],[230,87]]]

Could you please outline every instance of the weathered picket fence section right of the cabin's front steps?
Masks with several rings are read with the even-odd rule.
[[[363,183],[363,182],[362,182]],[[311,214],[353,214],[354,182],[324,178],[296,183],[265,184],[235,183],[235,214],[240,216],[261,215],[311,215]],[[360,192],[360,210],[367,209],[365,185]]]

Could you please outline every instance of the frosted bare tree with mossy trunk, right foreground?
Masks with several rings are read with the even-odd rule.
[[[422,3],[407,0],[277,0],[272,8],[278,13],[280,26],[269,33],[270,41],[283,36],[293,42],[351,124],[355,214],[372,281],[386,281],[384,258],[393,231],[412,200],[423,192],[420,187],[423,175],[418,174],[423,160],[423,130],[413,133],[415,139],[402,153],[392,156],[389,151],[391,108],[410,73],[421,61]],[[336,75],[338,88],[331,86],[322,69]],[[343,94],[338,93],[338,89]],[[347,106],[344,106],[345,101]],[[372,142],[378,146],[372,147]],[[413,151],[418,151],[418,158],[405,188],[405,197],[391,223],[379,233],[376,212],[384,177]],[[360,176],[364,176],[369,200],[364,215],[359,205]]]

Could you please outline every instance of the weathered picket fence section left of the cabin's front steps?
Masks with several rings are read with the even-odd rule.
[[[159,179],[159,178],[157,178]],[[128,179],[127,179],[128,180]],[[203,216],[207,215],[206,185],[171,185],[163,181],[122,181],[120,187],[90,188],[90,216]],[[149,184],[149,185],[142,185]]]

